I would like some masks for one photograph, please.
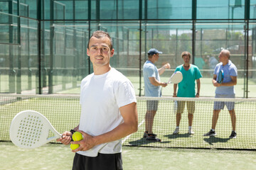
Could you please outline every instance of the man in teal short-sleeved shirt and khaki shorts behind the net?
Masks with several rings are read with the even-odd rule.
[[[183,75],[182,81],[178,84],[178,94],[176,94],[177,84],[174,84],[174,97],[186,97],[194,98],[199,97],[200,93],[200,78],[202,74],[196,65],[190,64],[191,54],[189,52],[182,52],[181,57],[184,64],[176,67],[175,72],[179,71]],[[196,83],[195,83],[196,81]],[[196,93],[197,84],[197,93]],[[181,113],[183,113],[185,108],[185,103],[188,109],[188,134],[193,135],[192,122],[193,113],[195,112],[195,101],[176,101],[177,111],[176,111],[176,129],[174,130],[174,135],[179,133],[179,123],[181,122]]]

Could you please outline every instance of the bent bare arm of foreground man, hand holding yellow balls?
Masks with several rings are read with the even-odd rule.
[[[78,149],[73,150],[72,152],[86,151],[100,145],[102,143],[112,142],[114,140],[119,140],[122,137],[137,132],[138,129],[138,113],[137,113],[137,103],[130,103],[127,106],[122,106],[119,108],[122,117],[124,118],[124,123],[117,126],[110,132],[106,132],[102,135],[91,136],[87,133],[78,130],[83,135],[83,140],[78,142],[71,142],[73,144],[79,144]]]

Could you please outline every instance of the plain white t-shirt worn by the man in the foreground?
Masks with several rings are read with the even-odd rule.
[[[123,123],[119,108],[137,102],[131,81],[116,69],[101,75],[90,74],[81,82],[79,130],[97,136],[109,132]],[[97,145],[78,154],[97,157],[122,152],[122,140]]]

